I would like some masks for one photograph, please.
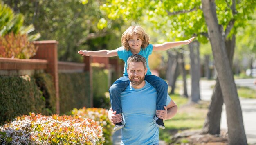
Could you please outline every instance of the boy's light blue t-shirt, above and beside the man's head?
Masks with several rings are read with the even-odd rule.
[[[149,57],[149,55],[151,55],[152,51],[153,51],[153,45],[149,44],[145,49],[140,48],[140,51],[138,53],[139,55],[146,58],[147,68],[148,68],[148,71],[147,71],[146,75],[151,75],[151,71],[150,71],[150,68],[148,66],[148,57]],[[133,54],[130,50],[126,51],[123,46],[117,48],[117,54],[118,54],[118,57],[120,59],[124,60],[124,76],[126,76],[126,75],[128,75],[128,73],[127,73],[127,60]]]

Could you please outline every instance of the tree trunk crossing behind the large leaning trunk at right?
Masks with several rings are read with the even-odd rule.
[[[232,68],[234,50],[236,44],[236,37],[232,35],[232,39],[225,41],[225,46],[227,49],[227,55],[229,57],[229,65]],[[211,103],[209,105],[209,110],[207,113],[207,118],[204,122],[204,127],[202,129],[202,134],[220,134],[220,119],[223,105],[223,96],[220,88],[220,83],[218,78],[216,79],[216,84],[213,89],[213,95],[211,97]]]

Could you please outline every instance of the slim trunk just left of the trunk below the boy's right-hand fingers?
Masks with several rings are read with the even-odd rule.
[[[184,63],[184,57],[183,53],[178,52],[178,63],[180,66],[180,72],[182,73],[182,79],[183,79],[183,96],[184,97],[189,97],[188,91],[186,88],[186,70],[185,70],[185,63]]]

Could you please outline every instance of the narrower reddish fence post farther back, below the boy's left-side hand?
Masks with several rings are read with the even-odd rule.
[[[93,107],[93,82],[92,82],[92,57],[91,56],[85,56],[83,57],[83,61],[85,63],[85,71],[89,72],[89,81],[90,81],[90,107]]]

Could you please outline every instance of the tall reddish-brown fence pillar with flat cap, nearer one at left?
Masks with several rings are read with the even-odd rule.
[[[38,50],[32,59],[46,59],[48,61],[46,72],[51,74],[54,80],[56,95],[56,113],[60,113],[59,85],[58,85],[58,41],[35,41],[33,42]]]

